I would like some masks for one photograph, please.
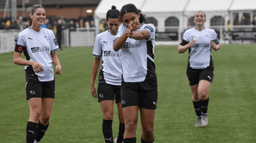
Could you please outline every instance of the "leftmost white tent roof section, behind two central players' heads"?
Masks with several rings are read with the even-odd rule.
[[[125,4],[135,4],[138,9],[141,9],[143,6],[143,2],[145,0],[129,0],[129,1],[120,1],[120,0],[102,0],[98,4],[97,8],[94,11],[95,16],[99,17],[100,19],[106,19],[106,14],[111,6],[116,6],[116,9],[119,11],[121,7]]]

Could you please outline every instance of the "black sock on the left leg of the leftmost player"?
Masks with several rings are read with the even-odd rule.
[[[37,123],[36,122],[27,122],[27,132],[26,132],[26,139],[27,143],[34,143],[35,141],[35,134],[37,129]]]

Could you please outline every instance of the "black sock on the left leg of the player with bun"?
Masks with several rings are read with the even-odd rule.
[[[102,132],[106,143],[113,143],[112,122],[113,120],[103,119]]]

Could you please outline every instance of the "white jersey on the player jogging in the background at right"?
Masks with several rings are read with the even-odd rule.
[[[213,29],[204,28],[199,31],[195,28],[188,29],[183,35],[180,45],[188,44],[191,39],[196,40],[196,45],[189,48],[189,62],[187,67],[202,69],[213,67],[211,41],[219,44],[217,34]]]

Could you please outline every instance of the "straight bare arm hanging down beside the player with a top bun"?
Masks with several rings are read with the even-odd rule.
[[[97,76],[97,73],[98,73],[98,68],[100,68],[100,58],[96,58],[94,59],[94,62],[93,62],[93,66],[92,66],[92,76],[91,76],[91,93],[92,93],[92,96],[97,98],[97,91],[96,91],[96,88],[94,86],[94,82],[95,82],[95,79],[96,79],[96,76]]]

